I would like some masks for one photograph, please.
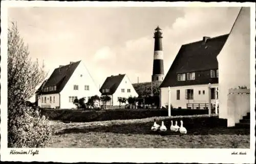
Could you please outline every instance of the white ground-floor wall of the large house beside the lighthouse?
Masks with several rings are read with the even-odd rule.
[[[218,88],[218,84],[212,84],[212,88]],[[185,99],[185,90],[193,89],[194,99]],[[180,100],[177,100],[177,90],[180,90]],[[204,94],[203,94],[204,90]],[[201,91],[201,94],[199,94]],[[170,104],[174,108],[187,108],[187,103],[208,103],[208,85],[180,86],[170,87]],[[211,103],[215,104],[215,99],[211,99]],[[168,88],[161,88],[161,106],[168,105]],[[203,108],[203,107],[201,107]]]

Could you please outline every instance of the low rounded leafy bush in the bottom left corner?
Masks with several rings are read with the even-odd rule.
[[[8,147],[41,148],[48,145],[52,130],[49,120],[31,107],[20,106],[23,114],[12,119],[13,126],[8,131]]]

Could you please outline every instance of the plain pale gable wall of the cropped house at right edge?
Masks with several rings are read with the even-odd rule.
[[[246,86],[250,89],[250,8],[242,7],[230,35],[217,57],[219,63],[219,117],[228,120],[228,126],[239,123],[250,112],[249,95],[230,95],[229,89]],[[254,57],[252,61],[255,60]],[[254,68],[254,66],[252,66]],[[254,76],[254,74],[253,74]],[[252,84],[254,85],[254,83]],[[236,97],[236,103],[228,97]],[[231,98],[232,99],[232,98]],[[230,99],[230,100],[231,100]],[[243,99],[243,100],[242,100]],[[231,100],[232,101],[232,100]],[[231,103],[231,104],[230,104]],[[231,107],[231,106],[233,107]],[[234,115],[239,115],[234,117]]]

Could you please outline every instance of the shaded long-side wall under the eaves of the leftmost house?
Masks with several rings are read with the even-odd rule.
[[[46,102],[45,102],[45,97],[46,97]],[[50,97],[52,97],[52,102],[50,102]],[[38,106],[42,108],[44,107],[48,108],[48,106],[49,108],[56,108],[57,106],[59,106],[59,94],[57,93],[57,94],[38,95]]]

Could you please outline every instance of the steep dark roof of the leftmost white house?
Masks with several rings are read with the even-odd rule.
[[[41,86],[37,90],[37,94],[59,93],[66,86],[68,80],[70,79],[71,75],[73,74],[73,72],[75,71],[80,62],[81,61],[73,62],[66,66],[55,68],[49,79],[46,81],[44,87],[56,86],[56,90],[44,92],[42,91]]]

